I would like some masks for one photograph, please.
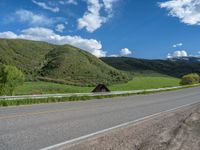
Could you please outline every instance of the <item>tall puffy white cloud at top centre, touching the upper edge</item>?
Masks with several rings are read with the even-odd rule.
[[[87,11],[78,19],[78,29],[86,28],[89,32],[99,29],[112,16],[113,3],[116,1],[118,0],[103,0],[101,3],[99,0],[88,0]],[[101,15],[102,8],[107,11],[107,15]]]

